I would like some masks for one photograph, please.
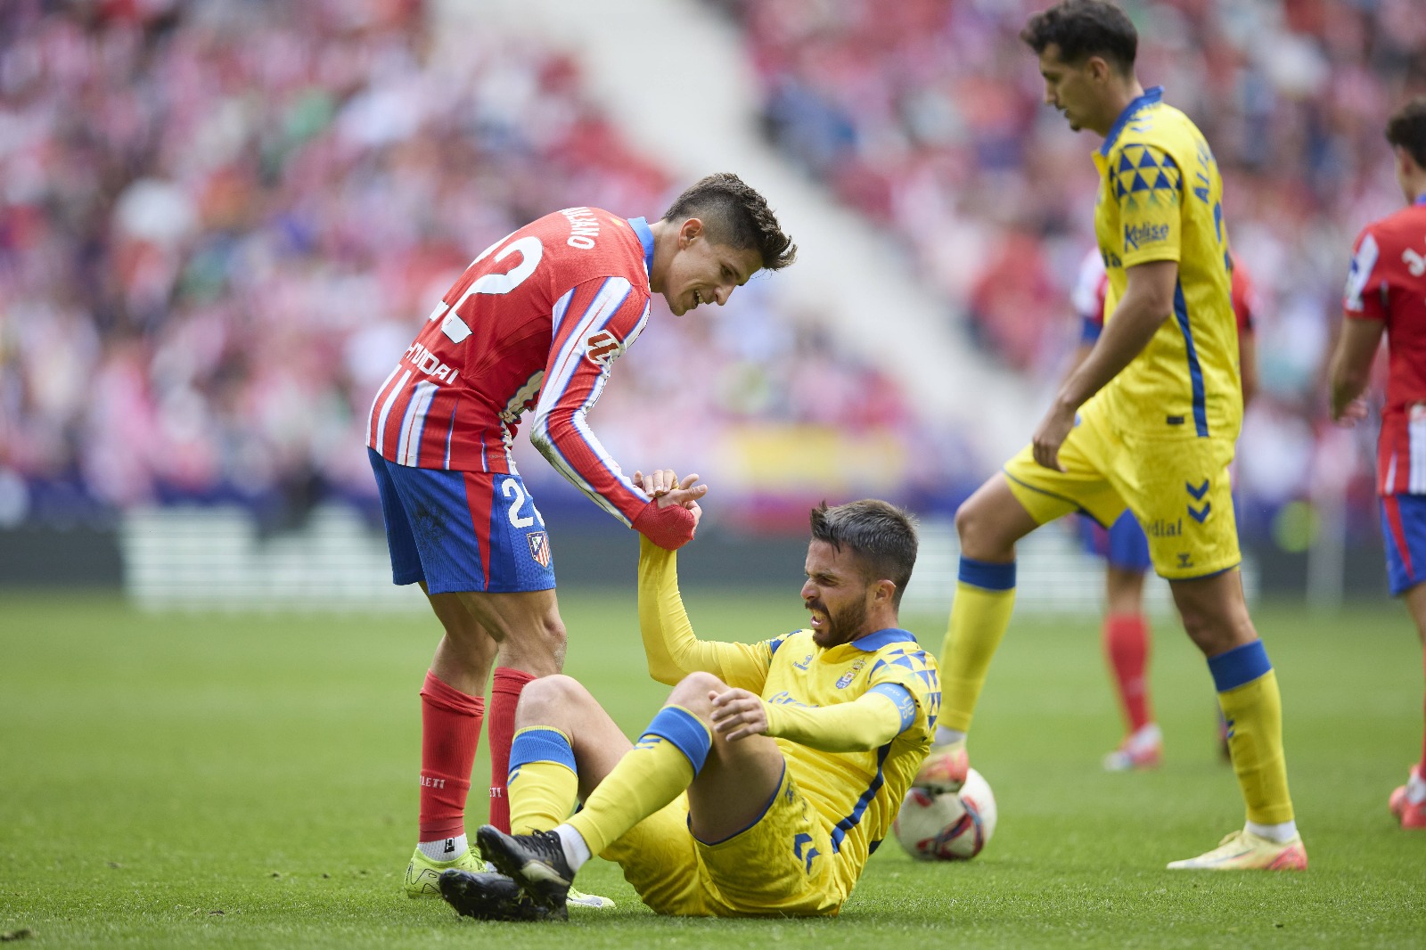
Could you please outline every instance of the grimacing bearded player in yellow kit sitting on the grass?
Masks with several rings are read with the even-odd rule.
[[[699,514],[693,476],[640,478],[660,504]],[[911,519],[886,502],[813,509],[811,622],[746,645],[697,639],[677,555],[642,543],[639,623],[649,672],[674,686],[667,703],[630,743],[575,679],[529,683],[511,752],[513,834],[476,834],[503,876],[448,870],[442,896],[478,919],[565,917],[570,880],[600,854],[660,914],[836,914],[935,727],[935,660],[897,628],[915,546]]]

